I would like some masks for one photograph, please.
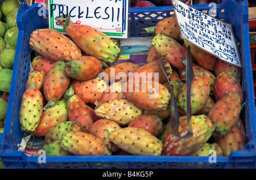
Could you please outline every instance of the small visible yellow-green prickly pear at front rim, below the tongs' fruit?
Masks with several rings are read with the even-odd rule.
[[[205,143],[203,147],[192,153],[191,156],[223,156],[223,149],[217,143]]]

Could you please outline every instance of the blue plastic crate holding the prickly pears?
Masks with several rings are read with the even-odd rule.
[[[195,8],[208,12],[208,5],[195,5]],[[250,61],[248,5],[247,1],[222,1],[217,5],[216,18],[232,23],[234,34],[241,45],[242,86],[245,91],[245,107],[241,119],[245,123],[247,143],[241,151],[233,151],[229,156],[218,156],[216,163],[210,163],[209,157],[191,156],[47,156],[46,163],[40,164],[38,157],[27,156],[17,151],[22,140],[19,123],[19,106],[22,93],[30,71],[30,52],[28,40],[32,31],[47,27],[47,18],[39,16],[38,4],[22,4],[18,11],[18,44],[16,47],[14,74],[7,109],[6,125],[0,134],[0,157],[6,168],[131,168],[131,169],[171,169],[171,168],[256,168],[255,151],[255,102],[253,75]],[[152,36],[142,28],[155,25],[159,20],[174,13],[172,6],[151,8],[130,8],[129,37]]]

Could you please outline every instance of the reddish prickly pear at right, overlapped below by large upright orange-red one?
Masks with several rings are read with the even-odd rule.
[[[226,95],[229,90],[236,91],[240,95],[241,103],[244,100],[243,88],[236,76],[231,71],[223,71],[216,77],[214,81],[214,97],[218,101]]]

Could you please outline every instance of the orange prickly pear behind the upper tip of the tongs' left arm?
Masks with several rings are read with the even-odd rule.
[[[168,74],[172,74],[172,68],[170,63],[166,62],[165,65],[168,68]],[[164,71],[160,65],[159,60],[155,60],[149,63],[144,64],[138,70],[134,71],[133,76],[135,78],[142,77],[145,80],[155,80],[161,84],[167,82],[166,76],[164,75]],[[169,78],[169,77],[168,77]]]

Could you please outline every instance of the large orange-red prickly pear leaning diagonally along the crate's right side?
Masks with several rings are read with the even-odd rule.
[[[222,138],[237,123],[241,112],[240,96],[236,91],[228,91],[226,95],[213,105],[208,113],[215,131],[214,138]]]

